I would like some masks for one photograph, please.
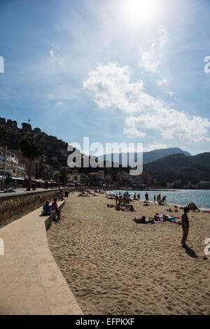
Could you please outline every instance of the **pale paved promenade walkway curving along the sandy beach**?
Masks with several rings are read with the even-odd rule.
[[[47,217],[39,216],[41,209],[0,230],[4,241],[4,255],[0,255],[1,315],[82,314],[48,248]]]

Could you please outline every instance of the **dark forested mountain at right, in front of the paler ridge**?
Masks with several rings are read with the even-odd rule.
[[[153,179],[166,181],[210,181],[210,153],[174,154],[144,165]]]

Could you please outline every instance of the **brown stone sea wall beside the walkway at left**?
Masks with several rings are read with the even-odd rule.
[[[0,197],[0,229],[3,226],[15,221],[16,219],[29,214],[31,211],[41,207],[45,201],[52,201],[57,197],[57,189],[43,190],[38,192],[30,192],[1,196]]]

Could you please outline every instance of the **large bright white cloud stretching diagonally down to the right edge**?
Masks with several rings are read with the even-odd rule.
[[[169,107],[144,90],[143,81],[130,81],[129,66],[117,63],[99,65],[90,71],[83,87],[92,95],[99,109],[115,107],[130,113],[125,120],[124,133],[129,137],[146,137],[146,132],[157,130],[163,139],[210,141],[210,121]],[[131,115],[138,113],[138,116]]]

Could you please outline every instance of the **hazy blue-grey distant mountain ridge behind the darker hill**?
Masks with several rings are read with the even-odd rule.
[[[159,160],[161,158],[165,158],[168,155],[173,155],[173,154],[184,154],[186,156],[190,156],[189,152],[181,150],[181,148],[161,148],[158,150],[150,151],[150,152],[144,152],[143,153],[143,163],[146,164],[148,162],[153,162],[155,160]],[[100,161],[105,161],[107,155],[101,155],[99,156]],[[132,165],[134,162],[137,162],[137,157],[139,156],[138,153],[111,153],[108,156],[111,156],[111,161],[112,162],[118,162],[120,165],[125,165],[126,164],[126,159],[127,162],[130,159],[130,165]],[[119,160],[118,160],[119,156]],[[116,157],[116,159],[115,159]]]

